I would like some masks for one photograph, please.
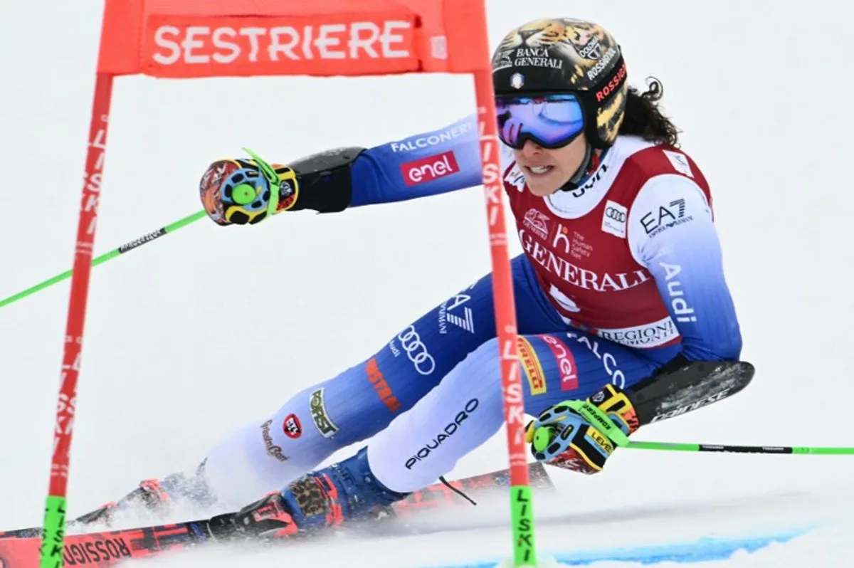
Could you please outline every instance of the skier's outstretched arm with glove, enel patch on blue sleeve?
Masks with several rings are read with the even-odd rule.
[[[373,148],[329,149],[272,169],[282,184],[276,213],[333,213],[461,190],[481,184],[477,119]],[[260,170],[250,159],[213,162],[200,186],[208,215],[219,225],[265,219],[270,192]]]

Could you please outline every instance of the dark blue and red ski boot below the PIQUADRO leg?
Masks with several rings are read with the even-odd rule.
[[[319,530],[393,514],[396,493],[377,481],[368,466],[367,448],[335,465],[313,471],[281,491],[243,507],[234,528],[252,536],[306,536]]]

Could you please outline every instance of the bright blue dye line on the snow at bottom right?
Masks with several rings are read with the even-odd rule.
[[[788,530],[773,535],[746,536],[740,538],[704,537],[694,542],[679,542],[633,548],[603,548],[600,550],[582,550],[567,553],[551,553],[561,565],[580,566],[594,562],[635,562],[657,564],[659,562],[709,562],[728,559],[734,553],[743,550],[755,552],[775,542],[788,542],[815,527]],[[436,565],[431,568],[494,568],[500,559],[481,560],[474,564]]]

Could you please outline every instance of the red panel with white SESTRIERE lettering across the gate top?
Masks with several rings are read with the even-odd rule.
[[[199,15],[157,20],[144,38],[150,64],[187,73],[207,67],[208,74],[240,75],[285,65],[334,74],[342,65],[415,56],[414,26],[402,19]]]

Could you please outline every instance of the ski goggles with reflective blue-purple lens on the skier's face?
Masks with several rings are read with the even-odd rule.
[[[495,97],[498,138],[514,149],[526,140],[543,148],[562,148],[584,131],[584,113],[571,94]]]

